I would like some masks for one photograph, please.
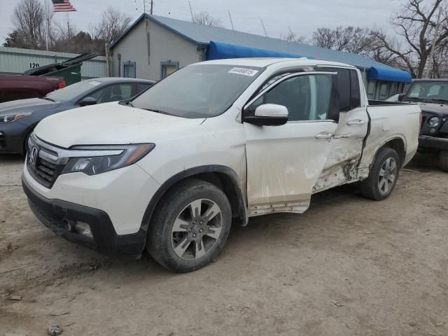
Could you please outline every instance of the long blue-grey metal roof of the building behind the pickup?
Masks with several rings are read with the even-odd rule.
[[[372,67],[381,67],[388,69],[395,69],[391,66],[379,63],[370,59],[369,57],[352,54],[350,52],[343,52],[339,50],[331,50],[317,47],[315,45],[307,45],[302,43],[288,43],[288,41],[280,38],[271,38],[255,34],[244,33],[243,31],[234,31],[220,27],[210,27],[200,25],[198,23],[167,18],[159,15],[143,14],[134,24],[123,33],[116,41],[111,44],[118,43],[125,34],[137,25],[140,20],[147,18],[153,22],[157,22],[162,27],[165,27],[180,36],[196,43],[197,45],[204,45],[207,47],[211,41],[228,43],[233,45],[244,45],[251,48],[259,48],[264,50],[274,50],[277,52],[286,52],[290,54],[302,55],[304,57],[312,57],[314,59],[323,59],[332,62],[341,62],[357,66],[360,69],[370,69]]]

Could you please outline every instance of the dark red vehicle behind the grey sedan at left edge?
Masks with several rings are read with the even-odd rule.
[[[45,97],[62,87],[66,87],[65,81],[57,77],[0,75],[0,103]]]

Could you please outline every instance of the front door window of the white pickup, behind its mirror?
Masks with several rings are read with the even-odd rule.
[[[244,113],[253,116],[262,104],[286,106],[289,121],[324,120],[328,118],[332,76],[302,75],[283,80],[248,106]]]

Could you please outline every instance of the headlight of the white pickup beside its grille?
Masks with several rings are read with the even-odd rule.
[[[62,174],[83,172],[87,175],[96,175],[109,172],[114,169],[133,165],[144,158],[146,154],[155,148],[155,144],[133,144],[127,146],[77,146],[73,150],[94,151],[117,151],[123,150],[118,155],[92,156],[90,158],[71,158],[67,162]]]

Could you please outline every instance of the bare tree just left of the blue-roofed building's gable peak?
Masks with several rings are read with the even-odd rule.
[[[96,26],[90,27],[91,35],[94,38],[103,40],[105,43],[111,43],[125,32],[131,21],[132,18],[129,15],[109,6],[102,13],[101,22]]]

